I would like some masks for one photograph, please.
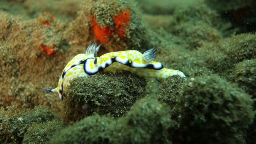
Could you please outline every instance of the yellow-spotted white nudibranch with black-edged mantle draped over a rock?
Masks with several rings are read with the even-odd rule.
[[[153,62],[156,58],[156,48],[151,48],[143,54],[137,50],[126,50],[120,52],[109,52],[98,57],[97,52],[100,45],[91,43],[85,54],[78,54],[65,66],[60,76],[58,86],[54,89],[44,88],[47,92],[57,92],[63,100],[63,94],[70,80],[78,76],[91,76],[101,70],[116,72],[116,70],[127,70],[138,76],[147,78],[168,78],[179,75],[186,78],[183,72],[164,68],[160,62]]]

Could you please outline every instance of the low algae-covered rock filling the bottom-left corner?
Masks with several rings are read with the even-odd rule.
[[[19,110],[7,107],[0,108],[0,143],[20,144],[25,133],[33,124],[40,124],[48,120],[59,120],[60,117],[43,107],[32,110]]]

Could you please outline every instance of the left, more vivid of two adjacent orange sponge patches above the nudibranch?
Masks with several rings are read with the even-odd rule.
[[[109,27],[101,28],[94,18],[91,18],[91,22],[93,24],[92,30],[97,40],[102,43],[108,42],[109,38],[112,37],[112,33]]]

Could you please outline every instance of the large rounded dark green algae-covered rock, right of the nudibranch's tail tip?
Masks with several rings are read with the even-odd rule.
[[[192,78],[180,100],[180,127],[172,133],[175,141],[245,143],[255,112],[250,95],[236,85],[216,75]],[[175,137],[177,133],[180,136]]]

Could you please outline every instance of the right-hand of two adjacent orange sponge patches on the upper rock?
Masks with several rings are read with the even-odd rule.
[[[129,8],[126,8],[126,10],[123,13],[118,14],[117,16],[114,16],[113,20],[114,20],[114,24],[116,25],[116,28],[114,31],[119,36],[123,37],[125,34],[125,30],[126,28],[129,27],[130,20],[131,20],[131,14],[130,14]]]

